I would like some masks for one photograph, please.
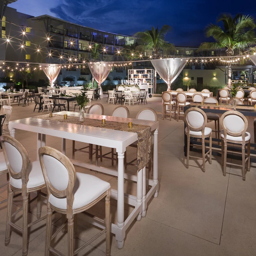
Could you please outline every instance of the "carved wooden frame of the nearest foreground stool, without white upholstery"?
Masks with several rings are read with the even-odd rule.
[[[60,230],[63,229],[65,224],[68,222],[68,256],[76,255],[78,252],[80,252],[83,248],[85,248],[87,245],[89,245],[91,242],[93,242],[95,239],[97,239],[102,234],[106,233],[106,255],[110,256],[110,196],[111,196],[111,188],[109,188],[105,193],[98,196],[96,199],[93,200],[93,202],[87,204],[86,206],[76,208],[73,210],[73,203],[74,203],[74,187],[76,183],[76,170],[74,165],[71,163],[71,161],[62,153],[60,153],[58,150],[51,148],[51,147],[41,147],[39,148],[39,161],[42,167],[42,172],[45,178],[46,183],[46,189],[47,189],[47,219],[46,219],[46,239],[45,239],[45,256],[49,256],[50,252],[54,255],[60,256],[62,253],[54,249],[50,246],[51,240],[60,232]],[[68,171],[69,181],[68,186],[66,189],[62,191],[58,191],[55,189],[52,184],[50,183],[45,165],[44,165],[44,155],[50,155],[54,158],[56,158],[58,161],[60,161],[65,168]],[[53,195],[55,197],[67,197],[67,209],[58,208],[56,206],[53,206],[49,202],[49,196]],[[103,229],[101,232],[99,232],[96,236],[91,238],[88,242],[84,243],[82,246],[80,246],[78,249],[74,250],[74,239],[76,238],[77,233],[77,221],[75,214],[78,214],[80,212],[84,212],[91,207],[93,207],[95,204],[97,204],[99,201],[101,201],[104,197],[105,199],[105,214],[106,214],[106,221],[105,226],[106,228]],[[52,228],[52,213],[53,211],[59,212],[61,214],[65,214],[67,216],[67,221],[61,225],[61,227],[52,235],[51,228]]]

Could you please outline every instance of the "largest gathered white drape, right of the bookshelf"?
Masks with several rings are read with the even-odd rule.
[[[180,72],[185,67],[187,61],[185,59],[162,59],[162,60],[151,60],[157,73],[167,83],[167,91],[171,90],[172,82],[180,75]]]

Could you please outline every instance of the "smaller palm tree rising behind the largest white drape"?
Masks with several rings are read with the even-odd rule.
[[[158,27],[152,27],[151,30],[146,30],[144,32],[137,32],[135,36],[140,37],[144,45],[139,46],[138,49],[142,50],[152,50],[154,59],[160,56],[160,51],[169,49],[172,44],[165,41],[165,35],[170,31],[171,27],[168,25],[163,25],[159,30]],[[154,81],[154,93],[157,90],[157,79]]]

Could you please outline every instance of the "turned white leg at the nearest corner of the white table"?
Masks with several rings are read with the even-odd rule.
[[[117,153],[118,178],[117,178],[117,226],[124,226],[124,153]],[[116,237],[118,239],[118,237]],[[119,238],[120,239],[120,238]],[[121,238],[122,239],[122,238]],[[124,240],[117,240],[118,249],[124,247]]]

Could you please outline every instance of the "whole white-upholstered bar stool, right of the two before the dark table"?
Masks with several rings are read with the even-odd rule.
[[[238,111],[227,111],[221,116],[221,163],[223,166],[223,176],[226,176],[226,165],[242,166],[242,179],[245,181],[245,163],[247,161],[247,171],[250,171],[250,139],[251,134],[246,132],[248,121],[246,117]],[[242,165],[227,163],[227,143],[242,145]],[[245,145],[247,144],[247,157],[245,158]]]

